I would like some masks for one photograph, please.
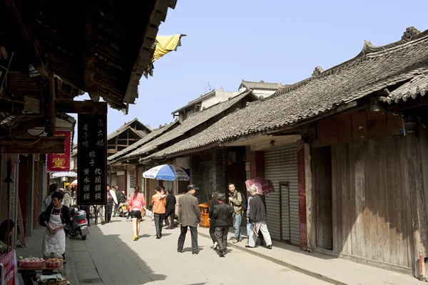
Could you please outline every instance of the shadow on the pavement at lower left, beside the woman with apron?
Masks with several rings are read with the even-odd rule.
[[[81,284],[99,279],[103,284],[138,285],[167,278],[164,274],[156,274],[142,258],[143,255],[128,246],[120,234],[104,234],[98,226],[92,226],[90,231],[86,241],[71,241],[74,265]],[[141,237],[150,236],[143,234]]]

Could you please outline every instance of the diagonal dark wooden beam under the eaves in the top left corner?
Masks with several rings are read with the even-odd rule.
[[[41,77],[43,77],[45,80],[49,80],[52,77],[52,74],[49,72],[47,62],[41,56],[39,41],[36,39],[36,37],[31,35],[30,29],[24,22],[21,9],[19,9],[19,6],[16,5],[14,0],[6,0],[6,5],[14,15],[14,18],[16,19],[16,22],[21,29],[21,33],[26,38],[30,49],[34,52],[34,58],[32,60],[34,67],[36,67],[37,71],[39,71]]]

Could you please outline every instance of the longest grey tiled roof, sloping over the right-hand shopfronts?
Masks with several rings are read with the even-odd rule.
[[[370,42],[358,56],[320,74],[250,103],[208,129],[158,151],[158,159],[180,151],[277,129],[313,118],[341,104],[360,99],[387,86],[417,78],[428,71],[428,31],[387,46]],[[419,81],[418,81],[419,82]],[[423,86],[423,85],[422,85]]]

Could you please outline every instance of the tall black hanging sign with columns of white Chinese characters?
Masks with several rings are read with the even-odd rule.
[[[104,205],[107,196],[107,115],[78,114],[77,204]]]

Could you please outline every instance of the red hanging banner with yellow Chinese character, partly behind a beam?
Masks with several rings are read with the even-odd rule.
[[[63,136],[64,141],[64,152],[63,154],[48,154],[46,156],[46,171],[58,172],[58,171],[70,171],[70,156],[71,156],[71,131],[56,131],[54,136]]]

